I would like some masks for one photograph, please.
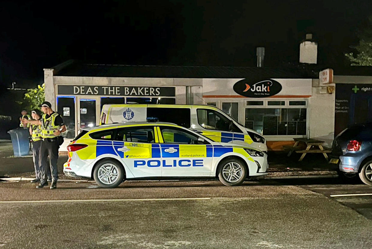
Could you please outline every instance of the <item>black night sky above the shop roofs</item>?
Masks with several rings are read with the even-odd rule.
[[[131,65],[265,66],[297,63],[305,33],[320,64],[347,65],[372,1],[2,1],[0,83],[42,83],[67,59]]]

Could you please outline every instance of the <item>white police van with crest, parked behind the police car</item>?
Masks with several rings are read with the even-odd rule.
[[[105,104],[100,125],[145,122],[147,117],[156,117],[159,122],[175,123],[215,142],[233,142],[267,151],[266,140],[262,135],[209,105]]]

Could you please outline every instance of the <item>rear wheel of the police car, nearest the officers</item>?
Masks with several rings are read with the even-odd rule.
[[[105,160],[96,165],[94,181],[103,188],[115,188],[124,178],[124,169],[113,160]]]

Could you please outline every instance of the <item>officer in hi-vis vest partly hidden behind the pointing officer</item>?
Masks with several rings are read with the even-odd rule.
[[[38,109],[33,109],[31,111],[31,116],[33,120],[40,120],[41,119],[41,112]],[[30,135],[32,137],[32,159],[33,159],[33,166],[35,167],[35,180],[32,180],[31,183],[36,183],[40,181],[40,167],[39,167],[39,154],[40,154],[40,146],[41,146],[41,125],[31,125],[30,126]],[[51,171],[50,168],[47,167],[47,177],[48,182],[51,181]]]

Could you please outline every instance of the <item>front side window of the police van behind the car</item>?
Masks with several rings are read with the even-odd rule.
[[[241,130],[221,113],[215,110],[198,109],[198,123],[208,130],[222,130],[225,132],[241,132]]]

